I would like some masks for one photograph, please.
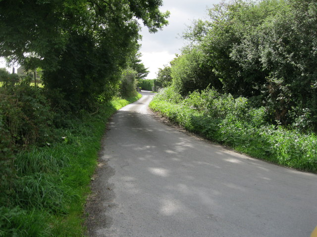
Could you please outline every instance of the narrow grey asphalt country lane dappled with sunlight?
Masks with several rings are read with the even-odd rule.
[[[309,237],[317,175],[188,136],[148,109],[110,120],[87,204],[90,237]]]

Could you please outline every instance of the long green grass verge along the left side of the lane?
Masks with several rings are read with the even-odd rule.
[[[0,194],[0,237],[84,236],[83,206],[106,122],[140,97],[116,98],[56,130],[55,142],[17,154],[15,181]]]

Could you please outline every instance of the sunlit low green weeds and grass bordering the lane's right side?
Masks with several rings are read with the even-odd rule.
[[[167,88],[152,100],[150,107],[187,130],[239,152],[317,172],[316,134],[267,123],[265,108],[253,108],[246,98],[209,89],[182,98]]]

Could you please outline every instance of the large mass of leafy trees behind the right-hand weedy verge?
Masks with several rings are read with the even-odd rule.
[[[209,84],[264,106],[268,121],[317,130],[317,1],[221,2],[184,34],[190,45],[171,62],[183,96]]]

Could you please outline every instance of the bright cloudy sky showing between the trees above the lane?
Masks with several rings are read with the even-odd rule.
[[[179,49],[185,45],[181,36],[187,29],[186,26],[192,25],[194,19],[208,19],[207,7],[211,8],[219,2],[220,0],[163,0],[161,11],[170,12],[169,25],[156,34],[150,34],[146,28],[141,32],[141,59],[150,71],[147,79],[155,79],[158,69],[168,64],[175,53],[180,52]]]

